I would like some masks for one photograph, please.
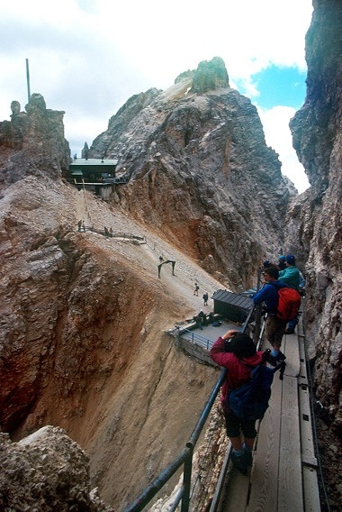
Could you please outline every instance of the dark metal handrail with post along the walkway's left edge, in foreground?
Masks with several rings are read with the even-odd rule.
[[[249,314],[247,315],[247,319],[245,324],[242,326],[241,333],[245,333],[247,330],[247,326],[251,321],[251,317],[254,313],[255,306],[251,308]],[[220,377],[217,380],[214,388],[211,391],[211,395],[208,398],[203,410],[202,414],[199,417],[197,424],[193,429],[193,434],[191,434],[189,441],[185,444],[181,453],[175,458],[173,462],[171,462],[164,471],[162,471],[157,479],[153,480],[146,489],[144,489],[138,498],[133,501],[128,507],[124,508],[123,512],[140,512],[144,509],[150,502],[152,498],[154,498],[157,492],[164,487],[166,482],[174,476],[175,471],[177,471],[182,465],[184,465],[183,471],[183,484],[182,488],[178,492],[175,497],[175,502],[170,508],[170,510],[175,510],[175,508],[181,503],[181,512],[188,512],[190,505],[190,490],[191,490],[191,476],[192,476],[192,468],[193,468],[193,449],[202,433],[202,428],[208,419],[208,416],[211,412],[211,407],[213,406],[217,395],[219,394],[220,387],[225,381],[227,376],[227,369],[223,368],[220,371]]]

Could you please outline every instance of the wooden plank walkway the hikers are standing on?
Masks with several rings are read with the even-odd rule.
[[[234,469],[228,453],[211,512],[320,511],[302,323],[298,331],[284,336],[284,380],[275,373],[250,474]]]

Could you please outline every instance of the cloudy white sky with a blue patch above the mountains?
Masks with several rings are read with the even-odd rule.
[[[225,61],[231,87],[257,106],[266,143],[302,192],[308,181],[288,123],[305,97],[312,0],[0,0],[0,120],[31,92],[64,110],[71,154],[90,145],[132,95],[165,90],[202,60]],[[301,98],[302,95],[302,98]]]

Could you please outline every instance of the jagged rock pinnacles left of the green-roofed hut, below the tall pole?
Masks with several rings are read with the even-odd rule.
[[[70,161],[64,112],[47,109],[40,94],[31,95],[26,112],[17,101],[11,108],[11,121],[0,123],[0,191],[29,175],[60,178]]]

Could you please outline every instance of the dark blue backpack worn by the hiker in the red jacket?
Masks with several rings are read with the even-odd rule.
[[[249,365],[246,366],[252,368]],[[271,386],[275,371],[281,370],[280,379],[283,379],[284,367],[285,363],[281,361],[275,368],[266,366],[264,362],[252,368],[250,379],[238,388],[230,390],[228,396],[230,410],[240,419],[262,419],[271,398]]]

